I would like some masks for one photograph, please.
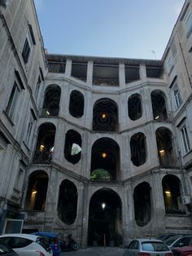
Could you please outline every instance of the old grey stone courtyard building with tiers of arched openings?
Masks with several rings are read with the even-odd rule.
[[[191,13],[162,60],[50,55],[33,0],[0,0],[0,233],[191,232]]]

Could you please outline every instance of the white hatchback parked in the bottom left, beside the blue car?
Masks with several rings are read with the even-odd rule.
[[[53,256],[50,245],[40,236],[29,234],[5,234],[0,241],[9,245],[19,256]]]

